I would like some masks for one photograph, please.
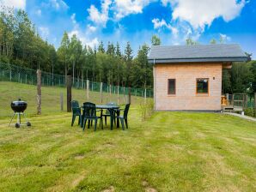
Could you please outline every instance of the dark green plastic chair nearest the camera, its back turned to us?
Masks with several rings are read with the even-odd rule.
[[[96,115],[96,105],[90,102],[83,103],[82,112],[82,130],[85,129],[86,122],[88,120],[88,129],[92,121],[94,121],[94,131],[97,129],[97,122],[100,119],[101,129],[103,129],[102,117],[97,117]]]

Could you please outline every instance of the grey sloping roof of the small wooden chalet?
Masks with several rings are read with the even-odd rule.
[[[153,45],[149,63],[245,62],[248,57],[238,44]]]

